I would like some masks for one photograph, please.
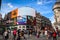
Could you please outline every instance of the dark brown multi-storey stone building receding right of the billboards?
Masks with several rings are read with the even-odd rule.
[[[40,13],[36,13],[36,26],[40,30],[44,30],[45,27],[52,27],[51,21]]]

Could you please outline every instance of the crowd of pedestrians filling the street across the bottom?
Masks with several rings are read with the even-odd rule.
[[[12,40],[27,40],[26,37],[24,36],[24,30],[16,30],[14,29],[12,31],[13,34],[13,39]],[[30,37],[32,35],[36,36],[37,38],[40,38],[41,35],[44,35],[44,37],[48,40],[49,38],[53,38],[53,40],[58,40],[59,34],[60,32],[58,31],[58,29],[56,30],[47,30],[46,28],[42,31],[33,31],[33,30],[29,30],[27,33]],[[8,40],[9,37],[11,36],[11,30],[5,30],[3,33],[3,37],[4,40]]]

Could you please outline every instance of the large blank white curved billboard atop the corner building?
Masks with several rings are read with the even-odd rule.
[[[31,8],[31,7],[21,7],[18,9],[18,16],[21,15],[30,15],[30,16],[33,16],[35,17],[36,11],[35,9]],[[33,15],[32,15],[33,14]]]

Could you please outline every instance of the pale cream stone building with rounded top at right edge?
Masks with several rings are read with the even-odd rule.
[[[54,18],[55,18],[55,27],[58,27],[60,29],[60,1],[57,0],[55,5],[53,6],[54,11]]]

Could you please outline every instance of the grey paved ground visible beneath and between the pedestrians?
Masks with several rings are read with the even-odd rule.
[[[32,35],[32,36],[29,36],[29,35],[25,35],[26,39],[27,40],[47,40],[46,37],[42,37],[40,36],[40,38],[37,38],[36,36]],[[4,40],[3,37],[0,35],[0,40]],[[13,40],[13,35],[10,35],[10,39],[8,40]],[[52,40],[52,38],[48,39],[48,40]],[[60,37],[59,39],[60,40]]]

